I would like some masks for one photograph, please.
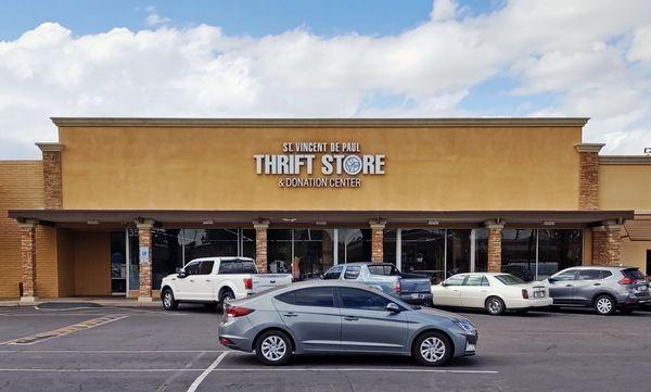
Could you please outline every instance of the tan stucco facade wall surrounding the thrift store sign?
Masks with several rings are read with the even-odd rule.
[[[385,174],[349,189],[282,189],[256,174],[254,154],[299,141],[359,142],[386,155]],[[578,126],[63,126],[63,207],[576,210],[579,141]]]

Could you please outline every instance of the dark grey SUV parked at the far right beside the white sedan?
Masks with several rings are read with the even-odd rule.
[[[638,268],[586,266],[563,269],[545,280],[554,306],[588,306],[600,315],[630,313],[651,304],[651,291]]]

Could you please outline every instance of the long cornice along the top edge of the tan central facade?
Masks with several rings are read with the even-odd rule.
[[[180,118],[50,117],[59,127],[583,127],[589,117],[449,118]]]

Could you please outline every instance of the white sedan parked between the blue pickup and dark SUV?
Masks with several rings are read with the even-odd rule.
[[[553,300],[540,282],[525,283],[510,274],[457,274],[432,286],[434,306],[485,308],[492,315],[507,309],[525,313],[532,307],[549,306]]]

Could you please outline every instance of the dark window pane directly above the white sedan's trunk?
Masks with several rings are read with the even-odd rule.
[[[524,281],[536,277],[536,230],[503,229],[501,270]]]

